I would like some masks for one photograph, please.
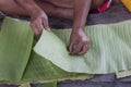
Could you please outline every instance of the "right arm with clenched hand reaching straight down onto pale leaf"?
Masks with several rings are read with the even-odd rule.
[[[83,54],[88,50],[90,39],[84,34],[84,26],[92,0],[74,0],[74,24],[70,38],[69,51],[71,54]],[[75,48],[74,48],[74,45]]]

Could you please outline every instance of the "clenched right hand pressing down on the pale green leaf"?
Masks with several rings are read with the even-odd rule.
[[[83,29],[71,33],[69,52],[70,54],[84,54],[90,49],[90,38]]]

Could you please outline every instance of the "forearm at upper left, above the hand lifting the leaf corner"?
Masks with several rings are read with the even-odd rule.
[[[41,11],[41,9],[34,2],[34,0],[14,0],[21,8],[28,12],[31,15],[33,12]]]

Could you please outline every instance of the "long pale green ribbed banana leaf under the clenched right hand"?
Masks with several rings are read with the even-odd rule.
[[[71,29],[43,32],[34,51],[67,72],[108,74],[131,69],[131,21],[86,26],[91,48],[83,55],[67,50]]]

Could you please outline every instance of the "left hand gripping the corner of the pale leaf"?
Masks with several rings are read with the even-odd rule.
[[[34,11],[31,15],[31,26],[35,35],[39,35],[44,29],[50,30],[48,17],[44,11]]]

